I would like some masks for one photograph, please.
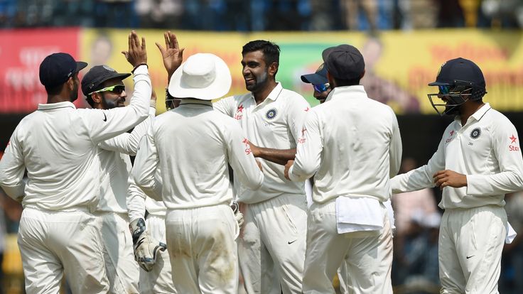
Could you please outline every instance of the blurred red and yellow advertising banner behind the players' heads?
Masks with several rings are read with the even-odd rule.
[[[167,75],[155,43],[164,45],[163,31],[138,30],[146,38],[149,71],[158,94],[158,112],[163,112]],[[89,67],[107,64],[129,72],[122,50],[127,48],[127,30],[53,29],[0,31],[0,112],[28,112],[45,102],[38,80],[38,65],[49,53],[64,51],[86,61]],[[363,33],[214,33],[176,32],[187,58],[194,53],[214,53],[230,67],[230,94],[246,92],[242,77],[242,46],[249,40],[272,40],[281,47],[276,80],[316,104],[311,85],[300,76],[321,64],[323,49],[340,43],[355,45],[365,57],[362,80],[370,97],[389,104],[397,114],[435,113],[426,97],[436,89],[436,79],[446,60],[463,57],[476,62],[487,80],[487,96],[500,111],[523,110],[523,50],[521,31],[456,29],[438,31],[385,31],[370,38]],[[126,80],[129,93],[132,80]],[[80,102],[84,99],[80,98]],[[78,103],[79,106],[85,104]]]

